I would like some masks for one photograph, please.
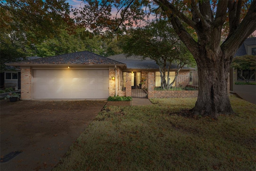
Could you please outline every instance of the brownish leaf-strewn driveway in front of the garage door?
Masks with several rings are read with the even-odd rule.
[[[1,100],[1,170],[51,170],[104,100]],[[21,152],[7,162],[11,152]]]

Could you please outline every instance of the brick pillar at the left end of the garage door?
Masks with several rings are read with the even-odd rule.
[[[21,68],[20,69],[20,81],[21,81],[21,99],[30,100],[31,97],[31,69]]]

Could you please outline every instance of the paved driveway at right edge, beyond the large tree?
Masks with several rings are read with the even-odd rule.
[[[234,92],[244,100],[256,104],[256,86],[255,85],[234,85]]]

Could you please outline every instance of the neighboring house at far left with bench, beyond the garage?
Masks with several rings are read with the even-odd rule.
[[[38,56],[30,56],[27,57],[27,60],[31,59],[37,59],[41,58]],[[20,60],[23,60],[22,58]],[[7,66],[7,69],[5,71],[0,72],[0,86],[4,87],[5,83],[14,83],[18,89],[21,88],[21,82],[20,82],[20,68],[19,67],[13,67],[13,66]]]

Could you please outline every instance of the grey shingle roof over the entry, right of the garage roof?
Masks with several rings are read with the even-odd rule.
[[[108,58],[125,63],[128,69],[159,69],[156,62],[150,58],[146,58],[145,60],[141,60],[140,56],[131,56],[126,58],[124,54],[113,55]],[[170,68],[177,69],[177,65],[172,64]],[[195,68],[184,66],[183,69],[192,70]]]

